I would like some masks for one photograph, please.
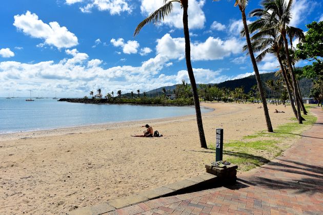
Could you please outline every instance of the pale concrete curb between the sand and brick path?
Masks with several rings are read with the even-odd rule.
[[[69,215],[103,214],[116,209],[128,207],[130,205],[146,202],[152,199],[178,195],[180,193],[185,193],[194,189],[198,189],[199,187],[214,186],[214,183],[216,183],[216,181],[217,181],[217,176],[209,173],[203,173],[202,175],[195,176],[189,179],[177,181],[154,189],[145,190],[135,195],[130,195],[130,196],[122,197],[118,199],[112,199],[112,200],[109,200],[108,202],[94,205],[94,206],[86,206],[83,208],[78,208],[76,210],[67,212],[67,214]]]

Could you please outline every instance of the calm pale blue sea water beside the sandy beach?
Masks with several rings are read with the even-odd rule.
[[[83,104],[0,98],[0,134],[195,114],[194,107]],[[201,112],[209,112],[201,107]]]

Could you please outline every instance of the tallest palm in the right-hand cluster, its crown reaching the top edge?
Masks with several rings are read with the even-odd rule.
[[[284,48],[286,52],[287,58],[287,66],[290,71],[290,75],[292,77],[292,85],[293,85],[293,92],[295,96],[295,101],[297,104],[297,119],[298,123],[302,124],[301,114],[300,114],[300,95],[298,94],[297,90],[297,83],[295,74],[292,67],[292,60],[290,57],[289,49],[288,49],[288,41],[287,41],[287,30],[289,23],[291,21],[291,9],[294,0],[264,0],[262,5],[265,8],[265,11],[270,11],[272,19],[276,21],[276,28],[279,30],[282,39],[284,41]]]

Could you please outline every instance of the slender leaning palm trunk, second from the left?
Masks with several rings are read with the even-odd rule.
[[[248,26],[247,26],[246,13],[245,13],[245,10],[243,8],[241,8],[240,6],[239,6],[239,9],[241,11],[242,18],[243,18],[243,23],[244,23],[245,33],[246,33],[247,46],[248,46],[251,62],[252,62],[252,65],[253,65],[253,70],[255,71],[255,76],[256,76],[256,80],[257,80],[257,85],[258,85],[260,98],[261,98],[261,100],[263,100],[265,118],[266,118],[266,123],[267,123],[267,130],[268,130],[268,132],[273,132],[273,127],[271,125],[271,121],[270,121],[270,117],[269,117],[269,112],[268,112],[267,101],[266,101],[266,97],[265,97],[265,93],[264,93],[263,84],[261,83],[260,74],[259,74],[259,71],[258,71],[256,59],[255,59],[255,56],[253,55],[253,51],[252,51],[250,35],[249,35],[249,29],[248,29]]]

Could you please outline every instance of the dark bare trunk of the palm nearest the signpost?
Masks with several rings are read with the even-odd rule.
[[[196,121],[197,121],[197,128],[198,128],[198,134],[199,134],[199,141],[202,148],[208,148],[205,135],[204,135],[204,129],[203,129],[203,122],[202,122],[202,115],[201,110],[199,106],[199,99],[197,94],[197,87],[196,82],[194,78],[193,68],[191,64],[191,45],[190,45],[190,33],[188,28],[188,1],[182,1],[183,5],[183,26],[184,26],[184,37],[185,37],[185,58],[186,58],[186,66],[187,66],[187,72],[190,78],[190,82],[192,85],[192,91],[193,91],[193,99],[195,104],[195,112],[196,112]]]

